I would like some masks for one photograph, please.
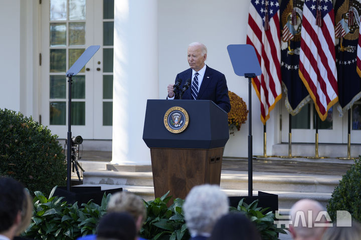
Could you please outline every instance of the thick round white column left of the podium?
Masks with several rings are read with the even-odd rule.
[[[157,1],[114,1],[112,164],[150,165],[142,135],[147,99],[157,99]]]

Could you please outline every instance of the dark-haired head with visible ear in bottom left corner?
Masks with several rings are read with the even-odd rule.
[[[0,189],[0,234],[13,239],[26,213],[25,189],[10,177],[0,177]]]

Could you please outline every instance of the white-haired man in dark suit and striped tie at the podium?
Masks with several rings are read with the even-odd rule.
[[[201,43],[191,43],[188,46],[187,53],[188,63],[191,68],[177,74],[175,85],[177,85],[177,82],[180,82],[180,84],[178,84],[179,87],[175,91],[175,85],[168,85],[167,99],[179,99],[184,85],[187,81],[192,80],[189,88],[183,93],[182,99],[212,100],[228,113],[231,110],[231,104],[226,77],[205,64],[207,47]]]

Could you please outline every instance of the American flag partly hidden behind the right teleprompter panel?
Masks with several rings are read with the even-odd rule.
[[[252,84],[261,102],[263,124],[282,97],[280,36],[278,0],[251,0],[246,42],[255,48],[261,65],[262,75]]]

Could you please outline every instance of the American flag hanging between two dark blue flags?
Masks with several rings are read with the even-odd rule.
[[[299,76],[323,121],[337,102],[337,71],[332,0],[305,0]]]

